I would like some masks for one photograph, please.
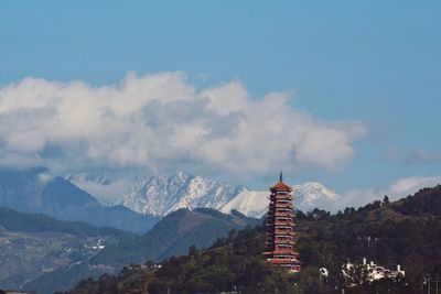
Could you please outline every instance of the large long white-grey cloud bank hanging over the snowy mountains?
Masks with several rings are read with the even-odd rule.
[[[290,96],[251,98],[237,80],[196,89],[183,73],[117,85],[39,78],[0,88],[0,164],[266,175],[273,166],[343,170],[365,127],[321,121]],[[195,167],[196,168],[196,167]]]

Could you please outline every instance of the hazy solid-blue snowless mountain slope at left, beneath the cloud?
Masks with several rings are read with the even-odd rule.
[[[0,206],[137,233],[148,231],[158,221],[153,216],[139,215],[123,206],[101,206],[87,192],[53,176],[45,167],[0,168]]]

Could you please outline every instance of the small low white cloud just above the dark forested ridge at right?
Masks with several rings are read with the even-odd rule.
[[[441,176],[411,176],[397,179],[386,187],[353,189],[343,194],[343,202],[338,204],[338,209],[348,206],[359,207],[374,200],[383,200],[385,195],[387,195],[390,200],[398,200],[417,193],[423,187],[433,187],[439,184],[441,184]]]

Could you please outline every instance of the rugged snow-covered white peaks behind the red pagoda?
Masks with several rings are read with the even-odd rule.
[[[133,211],[155,216],[165,216],[179,208],[206,207],[225,214],[236,209],[249,217],[261,217],[269,202],[268,190],[250,190],[186,173],[130,178],[79,174],[68,178],[104,204],[122,204]],[[303,211],[314,207],[332,209],[340,198],[318,182],[293,186],[293,195],[295,207]]]

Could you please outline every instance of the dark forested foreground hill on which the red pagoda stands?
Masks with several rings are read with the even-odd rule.
[[[298,214],[298,250],[303,269],[288,274],[262,260],[262,228],[232,231],[204,251],[126,268],[118,276],[85,280],[72,293],[420,293],[427,275],[441,274],[441,186],[424,188],[396,203],[375,202],[334,216],[314,209]],[[341,274],[347,260],[363,257],[386,268],[401,264],[406,277],[358,281]],[[326,268],[321,279],[319,268]],[[144,291],[144,292],[142,292]]]

